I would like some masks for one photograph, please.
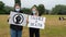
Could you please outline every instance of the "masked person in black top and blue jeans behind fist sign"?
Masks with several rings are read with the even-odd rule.
[[[20,10],[21,10],[21,7],[18,3],[15,3],[14,12],[23,13]],[[22,35],[22,29],[23,29],[23,26],[10,24],[11,37],[22,37],[21,36]]]

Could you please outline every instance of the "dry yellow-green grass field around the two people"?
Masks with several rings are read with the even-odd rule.
[[[44,15],[43,15],[44,16]],[[66,21],[58,17],[66,15],[45,15],[45,29],[40,30],[41,37],[66,37]],[[7,22],[8,15],[0,15],[0,37],[10,37],[10,25]],[[29,28],[23,28],[23,37],[29,37]]]

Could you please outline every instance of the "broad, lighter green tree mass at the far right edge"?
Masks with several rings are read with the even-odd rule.
[[[52,10],[52,14],[66,14],[66,5],[56,5]]]

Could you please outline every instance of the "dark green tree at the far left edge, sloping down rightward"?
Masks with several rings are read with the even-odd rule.
[[[4,3],[2,1],[0,1],[0,14],[9,14],[10,11],[12,11],[13,8],[12,7],[4,7]]]

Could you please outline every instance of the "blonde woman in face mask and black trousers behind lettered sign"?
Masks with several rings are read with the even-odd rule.
[[[36,7],[33,7],[31,10],[32,10],[32,15],[38,16],[38,11],[37,11]],[[30,29],[30,37],[34,37],[34,35],[35,35],[35,37],[40,37],[38,28],[30,27],[29,29]]]

